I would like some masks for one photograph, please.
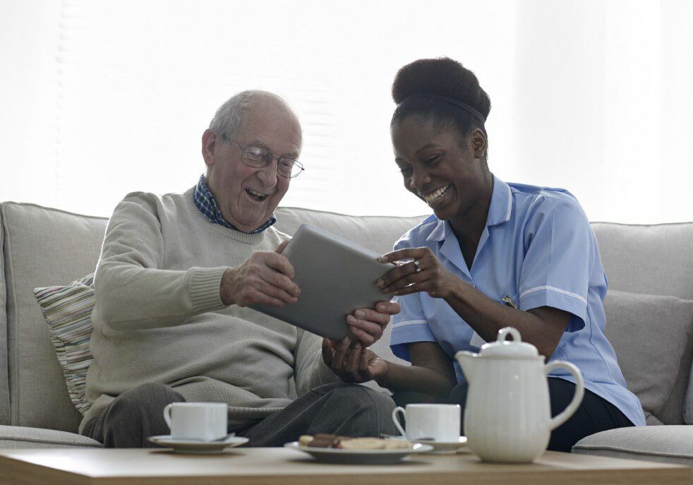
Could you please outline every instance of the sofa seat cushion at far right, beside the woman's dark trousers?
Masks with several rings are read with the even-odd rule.
[[[693,426],[631,426],[601,431],[575,443],[572,453],[693,466]]]

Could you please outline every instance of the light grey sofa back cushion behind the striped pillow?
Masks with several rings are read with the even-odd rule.
[[[2,205],[7,285],[10,424],[76,431],[73,406],[32,290],[96,267],[106,219],[39,205]]]

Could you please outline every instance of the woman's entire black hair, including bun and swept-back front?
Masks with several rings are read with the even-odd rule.
[[[461,140],[474,128],[486,135],[483,121],[454,102],[468,104],[486,119],[491,100],[474,73],[449,57],[418,59],[400,68],[392,83],[392,99],[397,108],[390,126],[414,115],[435,128],[458,133]]]

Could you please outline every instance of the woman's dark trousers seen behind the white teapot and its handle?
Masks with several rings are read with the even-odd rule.
[[[551,416],[554,417],[570,404],[575,385],[561,378],[548,379],[548,394],[551,402]],[[450,394],[450,402],[462,407],[462,430],[464,433],[464,406],[466,404],[467,384],[458,384]],[[577,411],[562,425],[551,432],[548,449],[570,453],[572,446],[585,436],[608,429],[633,426],[625,414],[607,400],[591,390],[585,389]]]

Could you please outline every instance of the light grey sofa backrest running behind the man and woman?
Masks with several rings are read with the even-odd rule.
[[[300,208],[278,208],[277,229],[294,234],[311,222],[378,253],[422,217],[353,217]],[[0,208],[0,424],[76,431],[80,414],[64,378],[32,289],[67,284],[97,263],[107,220],[44,208],[3,203]],[[693,299],[693,223],[657,226],[593,224],[610,287]],[[389,327],[387,328],[389,333]],[[389,335],[376,342],[393,358]],[[680,369],[683,395],[690,369]],[[679,412],[682,399],[674,403]],[[693,416],[693,412],[691,414]]]

